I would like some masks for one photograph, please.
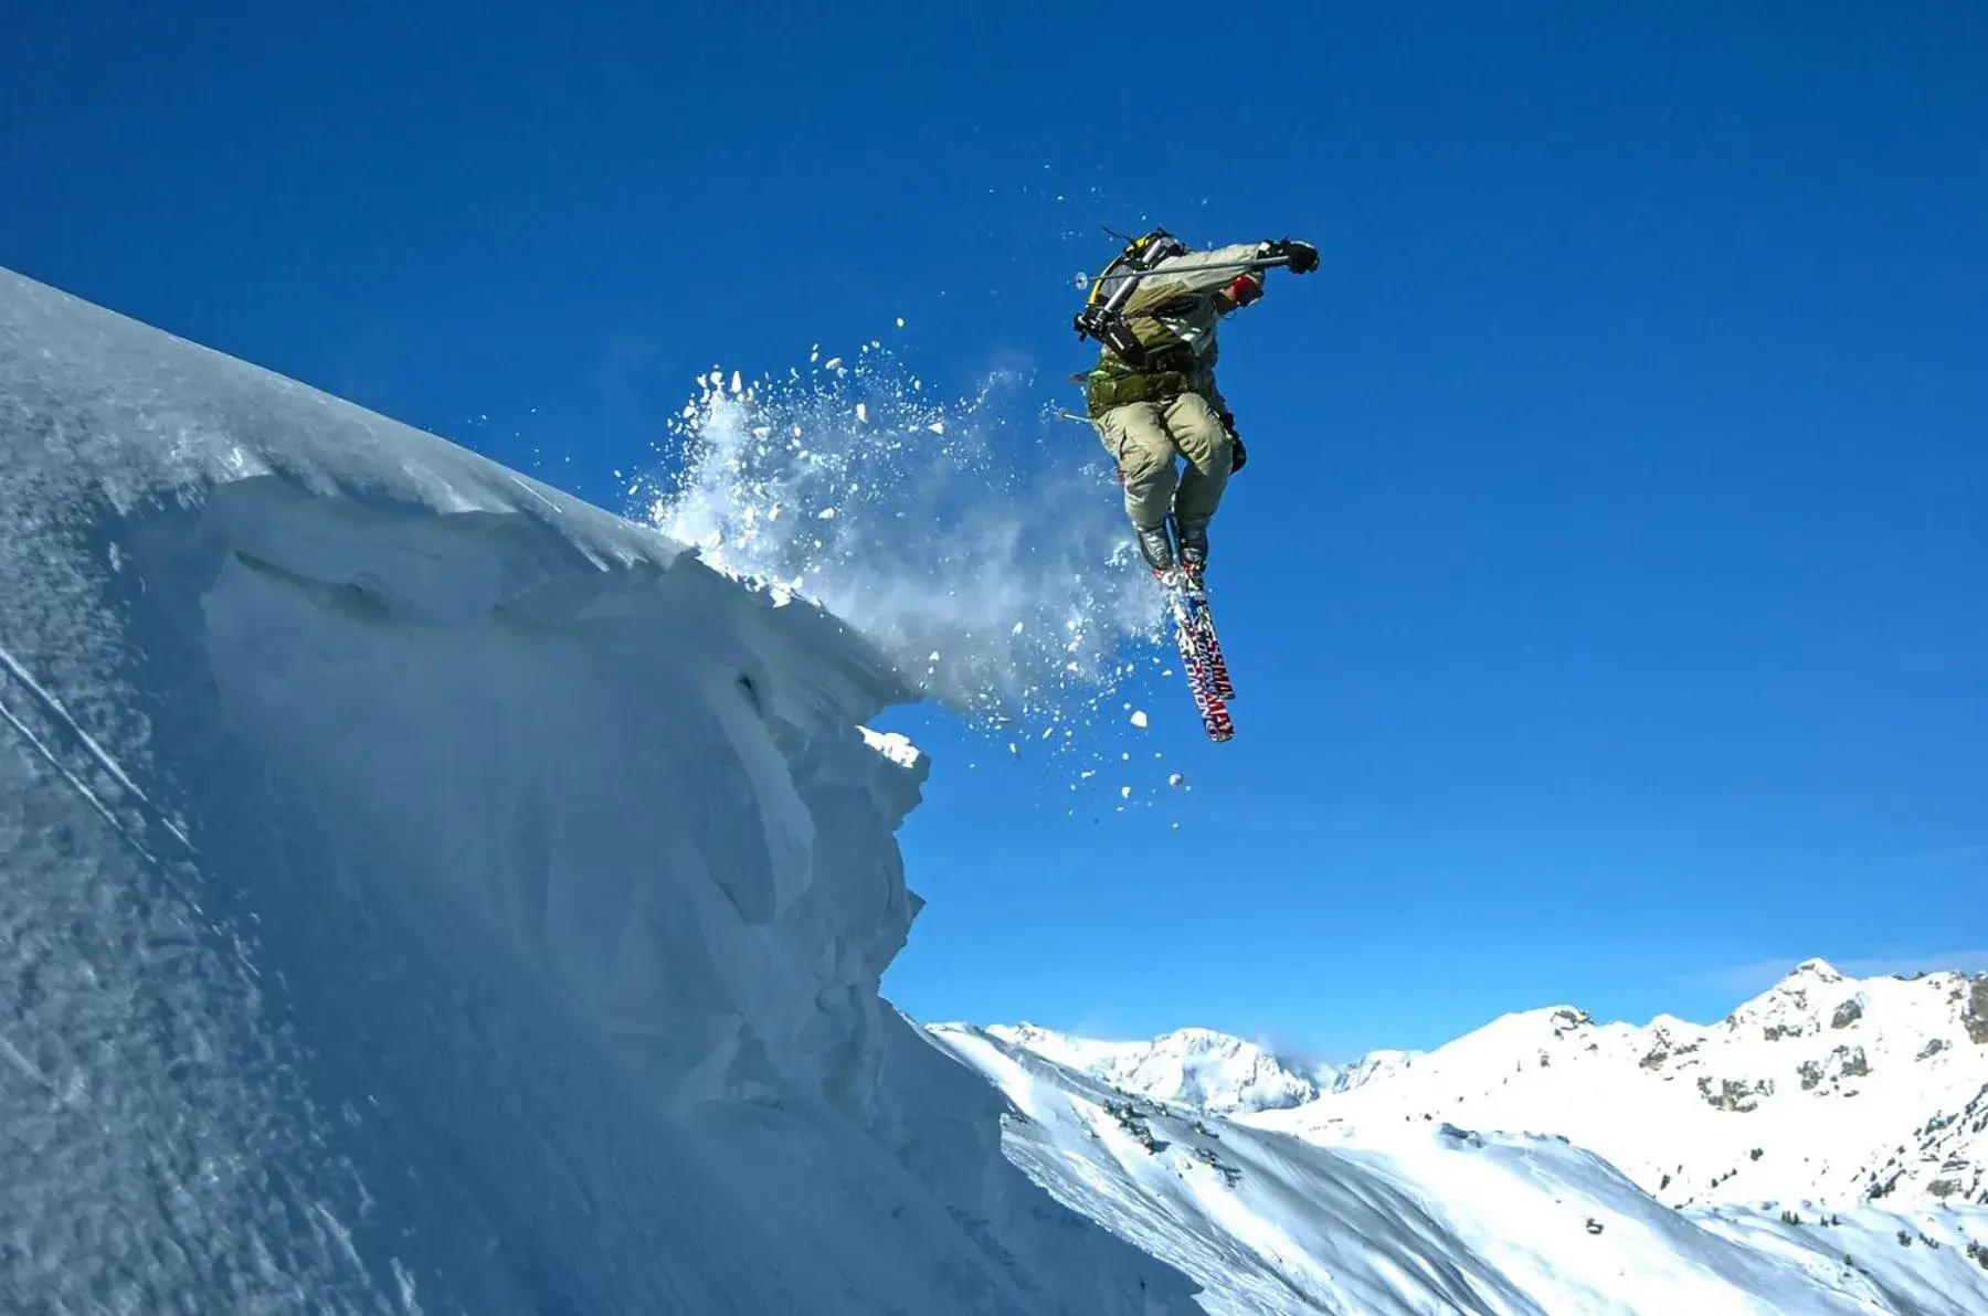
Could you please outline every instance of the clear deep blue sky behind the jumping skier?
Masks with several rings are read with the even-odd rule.
[[[342,8],[30,6],[0,262],[612,503],[897,316],[1060,398],[1101,223],[1324,248],[1225,328],[1239,740],[1072,817],[901,716],[911,1012],[1344,1058],[1988,964],[1980,6]]]

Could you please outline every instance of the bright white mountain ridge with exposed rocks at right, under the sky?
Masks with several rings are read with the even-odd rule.
[[[1262,1121],[1559,1133],[1672,1205],[1988,1205],[1988,976],[1809,960],[1712,1026],[1529,1010]]]

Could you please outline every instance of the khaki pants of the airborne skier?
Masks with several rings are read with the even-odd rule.
[[[1127,402],[1095,423],[1105,451],[1119,463],[1125,515],[1137,529],[1161,525],[1169,511],[1189,525],[1215,515],[1235,449],[1207,398],[1181,394],[1173,402]],[[1185,475],[1175,473],[1175,455],[1187,459]]]

